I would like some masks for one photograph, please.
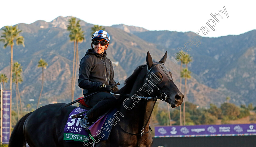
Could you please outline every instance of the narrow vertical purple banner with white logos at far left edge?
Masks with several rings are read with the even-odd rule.
[[[3,90],[2,143],[8,144],[10,139],[10,90]]]

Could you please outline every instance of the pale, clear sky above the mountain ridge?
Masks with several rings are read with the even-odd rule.
[[[252,0],[12,0],[1,2],[0,28],[74,16],[95,25],[125,24],[150,31],[198,32],[206,26],[210,31],[206,35],[199,32],[201,36],[219,37],[256,29],[255,5],[256,1]],[[219,22],[211,16],[216,13],[223,17],[216,16]],[[208,21],[209,25],[215,26],[210,28]]]

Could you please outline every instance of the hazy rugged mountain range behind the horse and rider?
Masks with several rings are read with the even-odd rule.
[[[38,20],[31,24],[17,24],[22,30],[20,35],[25,39],[25,47],[13,46],[13,62],[23,66],[23,82],[19,85],[23,105],[31,103],[34,107],[37,103],[42,79],[41,68],[37,68],[40,58],[48,63],[44,70],[41,105],[71,101],[73,42],[69,41],[66,30],[70,18],[59,16],[52,22]],[[81,20],[80,25],[85,35],[85,41],[78,44],[81,59],[91,48],[93,24]],[[183,47],[184,50],[184,45],[191,42],[192,37],[199,38],[194,32],[149,31],[124,24],[104,28],[111,36],[107,56],[112,62],[119,62],[113,65],[115,80],[121,83],[119,88],[137,66],[146,63],[148,51],[154,60],[159,60],[168,51],[165,66],[172,72],[173,80],[179,87],[180,62],[175,60],[174,54],[179,52],[177,48]],[[218,38],[202,37],[199,40],[198,47],[193,45],[187,51],[193,59],[188,65],[192,77],[188,80],[187,100],[199,107],[208,107],[210,103],[220,105],[229,96],[230,102],[236,105],[251,102],[256,105],[256,30]],[[3,45],[1,42],[0,73],[9,78],[10,47],[4,49]],[[83,96],[77,85],[75,98]],[[6,83],[5,88],[8,86]],[[13,86],[12,99],[15,99],[14,83]],[[181,92],[184,92],[184,80]],[[34,102],[30,102],[32,99]]]

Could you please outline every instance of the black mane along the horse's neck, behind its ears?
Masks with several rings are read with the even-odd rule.
[[[124,82],[124,86],[118,91],[118,93],[126,93],[129,94],[131,92],[131,87],[133,87],[133,84],[135,82],[135,80],[137,79],[137,76],[139,75],[140,71],[144,68],[144,65],[140,65],[138,66],[134,72],[132,73],[132,75],[130,75]]]

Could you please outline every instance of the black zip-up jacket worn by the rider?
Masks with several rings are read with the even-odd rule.
[[[90,48],[81,59],[78,86],[84,89],[84,95],[99,91],[102,84],[116,84],[113,65],[106,55],[106,52],[97,54]]]

